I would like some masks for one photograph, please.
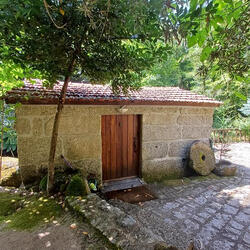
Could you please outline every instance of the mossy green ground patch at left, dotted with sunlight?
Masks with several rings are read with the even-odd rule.
[[[0,207],[0,223],[5,224],[5,229],[31,230],[63,213],[55,200],[46,197],[26,198],[0,193]]]

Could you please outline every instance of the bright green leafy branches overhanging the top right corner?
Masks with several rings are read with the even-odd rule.
[[[249,1],[191,0],[189,11],[179,19],[189,47],[202,47],[200,60],[213,74],[249,81]]]

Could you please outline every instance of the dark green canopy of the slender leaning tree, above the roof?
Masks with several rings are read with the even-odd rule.
[[[1,59],[39,70],[47,85],[74,72],[115,90],[137,88],[141,70],[167,51],[158,42],[158,7],[146,0],[1,0]]]

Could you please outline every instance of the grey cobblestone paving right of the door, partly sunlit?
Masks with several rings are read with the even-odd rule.
[[[198,249],[250,249],[250,144],[231,148],[225,158],[241,164],[236,177],[178,187],[152,185],[159,199],[142,207],[111,203],[133,216],[141,227],[180,249],[187,247],[181,238],[193,239]],[[178,231],[179,239],[172,237],[174,231]]]

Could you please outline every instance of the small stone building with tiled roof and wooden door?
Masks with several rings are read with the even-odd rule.
[[[16,110],[19,166],[28,182],[47,167],[61,89],[25,84],[6,96]],[[185,175],[187,148],[208,142],[220,103],[177,87],[143,87],[129,96],[108,86],[70,83],[61,117],[55,163],[63,155],[100,181],[139,176],[145,180]]]

